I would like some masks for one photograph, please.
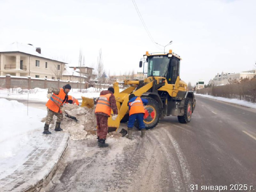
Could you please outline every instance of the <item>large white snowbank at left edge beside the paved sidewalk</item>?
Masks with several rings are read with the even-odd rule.
[[[27,108],[16,100],[0,98],[0,159],[14,156],[24,144],[29,141],[35,130],[42,130],[44,124],[40,122],[46,111]]]

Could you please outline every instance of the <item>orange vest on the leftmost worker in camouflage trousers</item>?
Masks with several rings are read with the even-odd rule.
[[[63,100],[65,99],[65,96],[66,96],[66,93],[64,92],[63,88],[60,88],[59,94],[57,95],[53,93],[52,97],[47,101],[46,106],[52,111],[58,113],[60,106],[63,105]]]

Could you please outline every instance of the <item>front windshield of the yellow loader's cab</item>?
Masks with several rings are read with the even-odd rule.
[[[165,77],[170,58],[167,56],[152,56],[148,58],[148,76]]]

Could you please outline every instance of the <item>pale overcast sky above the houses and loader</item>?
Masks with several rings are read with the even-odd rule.
[[[255,0],[135,0],[154,41],[182,58],[180,78],[207,84],[217,73],[255,68]],[[163,51],[144,29],[132,0],[0,0],[0,46],[41,47],[42,54],[96,68],[99,49],[108,74],[141,71],[146,51]]]

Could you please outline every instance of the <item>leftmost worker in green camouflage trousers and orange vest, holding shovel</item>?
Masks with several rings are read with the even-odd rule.
[[[44,124],[44,134],[51,134],[49,131],[49,125],[52,121],[54,115],[57,116],[57,121],[54,131],[62,131],[60,128],[60,123],[63,118],[61,107],[68,100],[68,92],[70,91],[70,84],[66,84],[62,88],[49,88],[47,98],[49,99],[46,103],[47,106],[47,116]]]

